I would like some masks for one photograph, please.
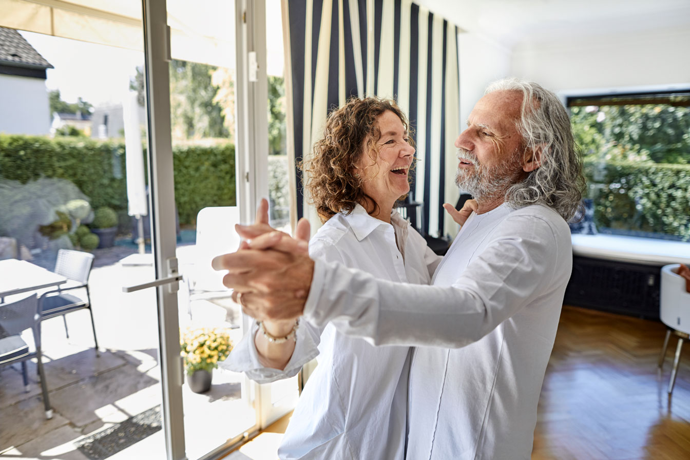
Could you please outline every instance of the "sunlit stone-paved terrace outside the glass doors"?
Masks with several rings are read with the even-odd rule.
[[[190,260],[193,250],[193,245],[178,248],[183,274],[189,267],[184,262]],[[119,263],[136,252],[131,245],[94,251],[89,285],[99,357],[86,310],[67,315],[69,339],[61,317],[43,321],[43,363],[55,411],[52,419],[44,416],[35,363],[29,363],[29,392],[24,392],[19,365],[0,370],[0,458],[164,459],[155,290],[121,291],[122,286],[153,279],[151,266]],[[33,262],[47,268],[53,263],[41,257]],[[190,324],[188,305],[195,324],[240,323],[239,310],[230,299],[188,304],[188,290],[181,283],[181,327]],[[239,341],[241,334],[241,330],[233,330],[233,341]],[[241,375],[219,369],[206,394],[195,394],[183,386],[190,459],[253,425],[253,412],[240,397],[243,386]]]

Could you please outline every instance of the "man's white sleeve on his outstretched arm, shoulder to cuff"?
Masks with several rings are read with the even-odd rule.
[[[316,261],[304,317],[315,325],[337,320],[341,332],[375,345],[465,346],[564,287],[572,253],[556,231],[540,217],[506,218],[452,286],[393,283]]]

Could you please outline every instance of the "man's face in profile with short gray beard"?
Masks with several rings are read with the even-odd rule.
[[[522,93],[495,91],[477,102],[467,129],[455,139],[455,183],[475,199],[502,194],[524,176],[523,139],[517,131]]]

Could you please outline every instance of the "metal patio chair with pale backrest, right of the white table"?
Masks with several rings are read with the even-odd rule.
[[[65,323],[65,334],[69,338],[70,332],[67,328],[65,315],[70,312],[88,309],[91,316],[91,327],[93,329],[93,341],[95,342],[96,353],[98,354],[98,339],[96,338],[96,325],[93,321],[91,311],[91,297],[88,290],[88,277],[91,272],[94,256],[88,252],[72,251],[61,249],[57,252],[55,270],[68,279],[67,283],[59,286],[57,290],[43,292],[39,299],[41,307],[41,319],[62,316]],[[76,291],[76,294],[66,291]]]

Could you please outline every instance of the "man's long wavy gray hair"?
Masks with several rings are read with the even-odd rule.
[[[566,108],[553,92],[538,83],[517,78],[495,81],[485,94],[494,91],[522,92],[522,109],[517,130],[525,147],[542,151],[540,167],[506,191],[506,201],[515,206],[544,203],[569,220],[580,207],[586,183],[582,175],[582,154],[573,139]]]

